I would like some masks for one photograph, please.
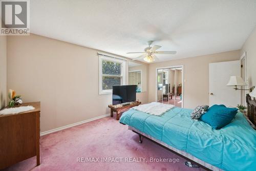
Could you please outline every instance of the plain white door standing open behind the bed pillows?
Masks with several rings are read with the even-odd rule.
[[[209,106],[224,104],[236,107],[241,103],[241,92],[226,86],[230,76],[241,76],[241,61],[209,63]]]

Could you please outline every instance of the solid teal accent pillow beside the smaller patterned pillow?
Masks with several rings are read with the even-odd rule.
[[[215,104],[212,105],[208,111],[200,117],[200,120],[208,123],[215,130],[218,130],[230,123],[237,114],[237,111],[237,108],[227,108],[223,104]]]

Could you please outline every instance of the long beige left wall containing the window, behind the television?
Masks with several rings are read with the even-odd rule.
[[[9,36],[7,52],[7,88],[41,101],[41,132],[110,113],[112,95],[98,90],[100,51],[31,34]]]

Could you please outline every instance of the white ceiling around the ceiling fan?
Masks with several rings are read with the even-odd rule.
[[[256,0],[33,0],[31,33],[117,55],[162,46],[160,61],[241,49],[256,25]]]

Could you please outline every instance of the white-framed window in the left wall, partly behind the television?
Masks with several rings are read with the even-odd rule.
[[[113,86],[125,84],[126,61],[99,55],[99,94],[111,94]]]

